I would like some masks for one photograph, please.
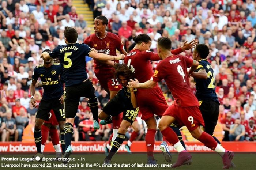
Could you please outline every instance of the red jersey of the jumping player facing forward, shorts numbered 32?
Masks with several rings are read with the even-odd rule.
[[[116,56],[116,50],[121,52],[124,49],[121,39],[116,34],[110,32],[107,32],[107,36],[102,39],[98,38],[95,34],[91,34],[84,40],[84,44],[87,44],[90,48],[94,48],[98,53],[104,53],[112,56]],[[113,67],[94,60],[94,68],[95,70],[108,70]]]

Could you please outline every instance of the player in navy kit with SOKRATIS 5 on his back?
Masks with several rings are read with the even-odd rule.
[[[65,42],[67,45],[59,45],[52,52],[42,53],[41,57],[46,60],[50,58],[59,58],[62,68],[61,78],[65,82],[64,108],[66,123],[64,126],[66,151],[65,158],[72,153],[71,138],[73,136],[73,123],[79,105],[80,97],[89,98],[88,104],[93,113],[94,129],[98,129],[98,101],[95,97],[93,83],[88,79],[86,73],[85,57],[89,56],[97,60],[121,60],[124,55],[109,56],[97,53],[86,44],[76,43],[78,33],[72,27],[65,27]],[[95,125],[97,124],[97,125]]]

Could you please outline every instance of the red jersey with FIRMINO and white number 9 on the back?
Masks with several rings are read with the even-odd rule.
[[[153,75],[154,82],[165,80],[175,103],[181,107],[199,106],[196,96],[188,86],[187,68],[193,60],[181,55],[172,55],[159,62]]]

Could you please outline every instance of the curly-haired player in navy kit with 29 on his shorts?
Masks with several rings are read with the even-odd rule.
[[[135,97],[137,90],[126,87],[128,81],[134,78],[134,74],[125,64],[116,64],[114,68],[116,70],[116,78],[121,82],[123,88],[102,108],[99,118],[102,120],[110,119],[111,115],[115,116],[123,112],[123,120],[118,129],[117,137],[113,141],[113,146],[108,156],[105,158],[104,163],[110,163],[111,158],[123,143],[127,129],[132,125],[133,121],[135,121],[139,112]]]

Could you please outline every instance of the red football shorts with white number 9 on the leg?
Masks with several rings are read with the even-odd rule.
[[[175,118],[175,124],[179,128],[187,126],[189,131],[195,130],[200,125],[204,126],[204,120],[199,110],[199,106],[178,107],[173,104],[168,107],[163,116],[172,116]]]

